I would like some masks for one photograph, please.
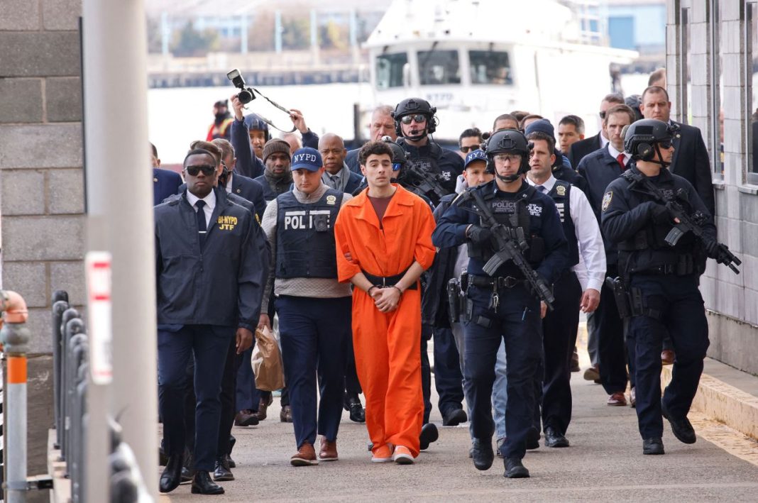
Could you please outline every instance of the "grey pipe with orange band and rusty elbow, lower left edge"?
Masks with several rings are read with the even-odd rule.
[[[8,386],[5,389],[5,501],[27,501],[27,305],[20,295],[0,291],[3,311],[0,340],[8,361]]]

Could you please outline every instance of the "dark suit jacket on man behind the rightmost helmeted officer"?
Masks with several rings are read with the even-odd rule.
[[[672,121],[673,123],[673,121]],[[674,158],[669,170],[694,186],[710,214],[714,214],[716,201],[713,197],[713,170],[703,135],[697,127],[675,123],[679,132],[674,137]]]

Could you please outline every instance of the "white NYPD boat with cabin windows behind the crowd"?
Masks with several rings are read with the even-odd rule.
[[[602,20],[587,14],[597,4],[394,0],[365,42],[374,98],[365,108],[425,98],[437,107],[435,137],[446,140],[490,130],[513,110],[554,125],[576,114],[594,133],[610,65],[637,57],[605,43]]]

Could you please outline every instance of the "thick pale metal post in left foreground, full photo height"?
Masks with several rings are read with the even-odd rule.
[[[82,11],[87,250],[111,254],[113,285],[111,341],[99,341],[90,331],[90,354],[111,350],[113,377],[110,384],[94,383],[97,369],[90,362],[86,501],[110,500],[108,414],[121,423],[124,442],[157,500],[155,243],[144,0],[83,0]],[[135,152],[145,152],[144,163],[140,155],[134,162]],[[135,348],[139,358],[133,357]]]

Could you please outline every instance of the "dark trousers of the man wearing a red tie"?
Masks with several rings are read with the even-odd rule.
[[[618,276],[615,264],[608,264],[607,276]],[[606,393],[625,392],[627,383],[624,323],[616,307],[613,290],[603,282],[600,289],[600,304],[594,315],[600,335],[600,381]],[[660,355],[659,355],[660,356]]]

